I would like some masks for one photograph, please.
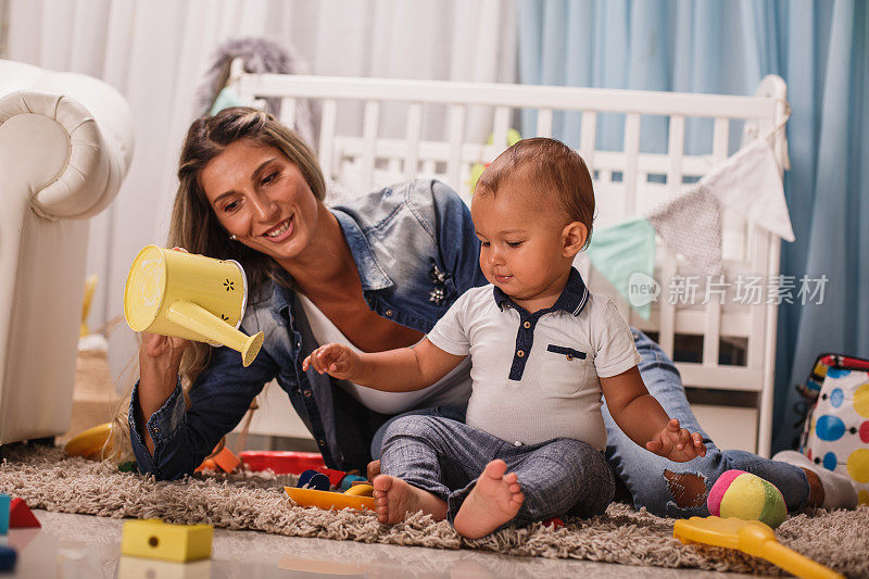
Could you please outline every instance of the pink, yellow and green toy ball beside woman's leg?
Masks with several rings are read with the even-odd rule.
[[[773,529],[788,516],[781,491],[745,470],[728,470],[718,477],[706,499],[706,506],[710,515],[759,520]]]

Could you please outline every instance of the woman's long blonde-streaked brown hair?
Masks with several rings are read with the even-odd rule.
[[[224,109],[214,116],[198,118],[187,131],[178,162],[178,192],[166,243],[191,253],[239,262],[244,267],[249,287],[253,289],[251,297],[255,301],[255,291],[268,279],[288,287],[291,279],[272,257],[229,239],[200,181],[205,165],[239,140],[280,150],[299,167],[314,197],[320,202],[324,200],[326,182],[323,171],[316,154],[299,135],[268,113],[248,106]],[[200,342],[193,342],[187,349],[181,361],[185,387],[192,385],[205,368],[210,354],[211,348]]]

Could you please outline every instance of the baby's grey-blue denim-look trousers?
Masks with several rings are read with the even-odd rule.
[[[446,502],[451,523],[487,464],[501,458],[516,473],[525,501],[506,525],[563,514],[601,515],[613,500],[613,471],[602,452],[569,438],[514,445],[465,423],[408,415],[386,430],[380,471]]]

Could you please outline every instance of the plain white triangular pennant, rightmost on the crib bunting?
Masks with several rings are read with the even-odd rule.
[[[779,166],[765,138],[755,139],[740,149],[698,184],[721,205],[784,240],[794,240]]]

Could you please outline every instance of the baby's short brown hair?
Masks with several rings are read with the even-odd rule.
[[[486,167],[474,193],[495,194],[501,186],[516,178],[528,181],[530,191],[554,197],[567,219],[565,224],[579,222],[585,226],[588,237],[583,249],[591,243],[594,188],[579,153],[556,139],[520,140]]]

